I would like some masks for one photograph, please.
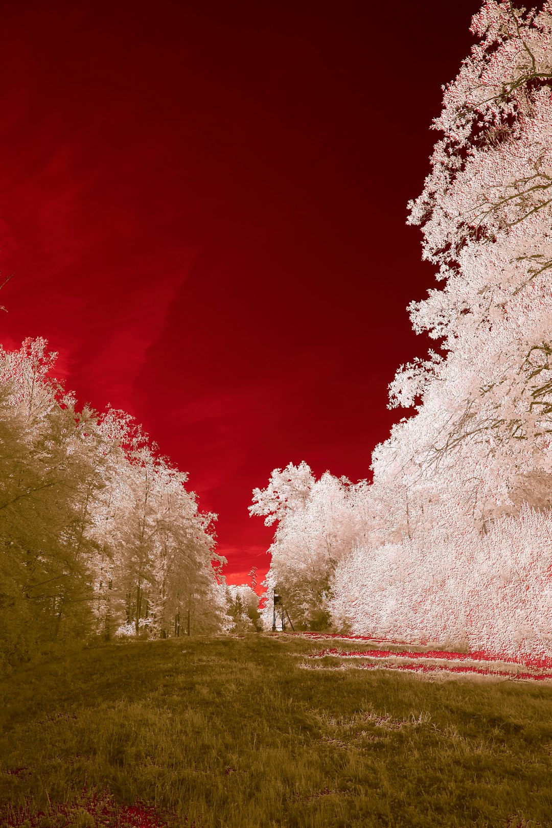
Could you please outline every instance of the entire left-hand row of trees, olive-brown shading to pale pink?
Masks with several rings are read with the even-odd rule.
[[[124,412],[78,409],[44,339],[0,349],[0,662],[233,627],[213,514]]]

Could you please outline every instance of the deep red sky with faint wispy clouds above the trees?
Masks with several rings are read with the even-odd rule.
[[[264,574],[252,489],[357,480],[427,345],[406,202],[476,0],[12,2],[0,27],[0,341],[136,416]],[[259,579],[260,580],[260,579]]]

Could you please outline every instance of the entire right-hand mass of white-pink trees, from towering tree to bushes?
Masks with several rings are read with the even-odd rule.
[[[302,626],[552,654],[552,7],[488,0],[410,204],[439,345],[401,366],[373,481],[276,469],[266,584]]]

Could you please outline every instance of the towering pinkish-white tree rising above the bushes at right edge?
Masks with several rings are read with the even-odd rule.
[[[551,9],[489,0],[473,18],[481,41],[444,90],[444,134],[410,205],[444,282],[410,316],[446,359],[431,354],[391,383],[391,407],[419,412],[396,427],[391,454],[418,478],[477,479],[471,497],[492,512],[519,506],[527,479],[540,480],[535,505],[552,491]],[[385,476],[390,448],[381,454]]]

